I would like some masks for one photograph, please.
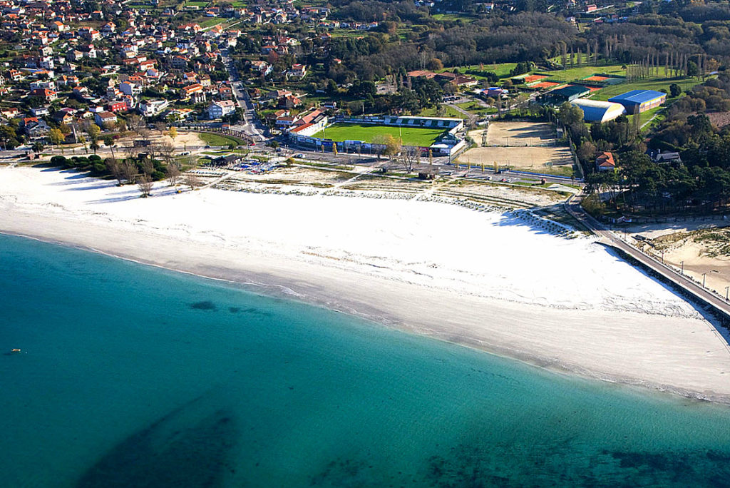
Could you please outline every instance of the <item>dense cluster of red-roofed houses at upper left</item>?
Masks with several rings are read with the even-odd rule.
[[[262,85],[296,86],[261,91],[271,110],[302,110],[307,105],[302,85],[314,80],[312,73],[322,66],[304,64],[301,54],[309,50],[326,56],[332,36],[324,30],[378,26],[342,23],[331,19],[330,7],[295,6],[291,0],[199,8],[142,3],[131,8],[101,0],[88,8],[86,0],[0,0],[0,24],[23,39],[23,45],[7,51],[15,57],[0,66],[4,118],[35,116],[38,128],[28,121],[28,131],[36,136],[44,123],[95,121],[104,129],[122,125],[132,114],[151,122],[168,115],[220,118],[236,107],[223,64],[225,50],[246,53],[246,75]],[[290,23],[296,23],[291,31]],[[327,36],[320,39],[321,34]],[[9,104],[20,110],[9,110]]]

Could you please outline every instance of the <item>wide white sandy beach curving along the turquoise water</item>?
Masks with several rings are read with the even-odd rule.
[[[730,348],[717,329],[591,239],[436,202],[153,194],[2,167],[0,231],[280,287],[539,365],[730,403]]]

